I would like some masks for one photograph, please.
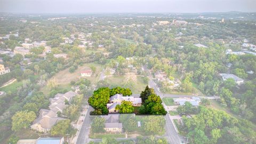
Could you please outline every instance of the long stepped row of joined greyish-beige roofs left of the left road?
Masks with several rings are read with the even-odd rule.
[[[75,96],[76,93],[73,91],[56,94],[54,98],[50,99],[49,109],[40,109],[38,118],[30,126],[31,129],[44,133],[49,132],[53,125],[66,119],[59,117],[58,112],[62,113],[63,109],[66,108],[65,101],[71,101]]]

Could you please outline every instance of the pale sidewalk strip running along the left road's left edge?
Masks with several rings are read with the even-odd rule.
[[[73,139],[71,140],[71,144],[76,144],[76,141],[77,141],[78,135],[79,135],[79,133],[80,133],[81,127],[82,127],[82,125],[83,125],[83,123],[84,123],[84,119],[85,119],[85,117],[86,117],[88,108],[89,108],[88,105],[86,105],[86,106],[83,107],[83,111],[82,111],[80,117],[78,118],[78,121],[77,121],[76,125],[74,126],[75,129],[77,129],[77,132],[76,132],[76,135],[75,135],[75,136],[73,137]]]

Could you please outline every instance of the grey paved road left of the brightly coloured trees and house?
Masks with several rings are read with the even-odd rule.
[[[81,127],[80,133],[78,135],[76,144],[82,144],[82,143],[89,143],[89,134],[90,134],[90,111],[92,111],[93,108],[89,106],[89,109],[87,111],[87,114],[84,118],[83,125]]]

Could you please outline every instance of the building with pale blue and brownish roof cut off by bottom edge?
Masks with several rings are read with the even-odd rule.
[[[23,139],[19,140],[17,144],[63,144],[64,138],[38,138],[38,139]]]

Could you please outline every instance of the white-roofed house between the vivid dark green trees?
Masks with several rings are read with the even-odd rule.
[[[109,103],[107,103],[109,113],[118,113],[116,105],[121,105],[122,101],[130,101],[134,107],[141,106],[141,98],[123,97],[122,94],[115,94],[110,97]]]

